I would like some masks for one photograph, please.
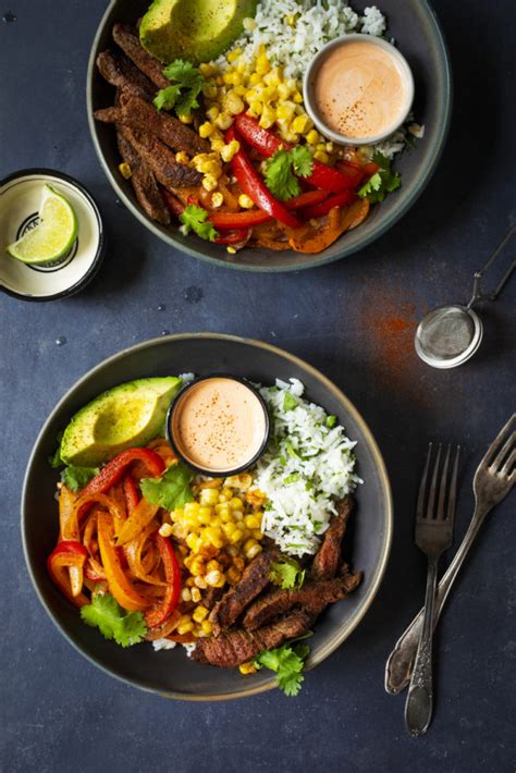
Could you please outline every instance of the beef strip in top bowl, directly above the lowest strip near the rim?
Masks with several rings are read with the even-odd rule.
[[[179,163],[173,150],[149,132],[137,132],[126,126],[124,136],[164,187],[173,192],[174,188],[197,186],[202,182],[200,172]]]

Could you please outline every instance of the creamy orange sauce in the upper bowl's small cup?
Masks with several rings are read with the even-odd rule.
[[[351,139],[394,131],[407,108],[406,78],[397,60],[367,40],[331,50],[314,86],[321,120]]]

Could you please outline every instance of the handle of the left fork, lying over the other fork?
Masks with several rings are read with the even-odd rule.
[[[435,587],[438,584],[438,559],[428,560],[427,591],[421,638],[416,654],[414,674],[405,703],[405,725],[414,736],[427,732],[432,719],[432,635]]]

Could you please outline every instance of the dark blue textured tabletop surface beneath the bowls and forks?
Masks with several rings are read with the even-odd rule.
[[[0,22],[0,176],[50,167],[78,177],[99,201],[110,244],[100,275],[77,297],[0,297],[1,770],[513,771],[514,499],[489,518],[443,616],[437,712],[426,737],[406,735],[404,698],[389,697],[382,684],[385,658],[423,596],[413,511],[426,443],[466,447],[457,543],[472,511],[475,466],[514,409],[516,282],[482,310],[486,339],[468,365],[433,371],[410,346],[420,315],[465,300],[470,274],[516,221],[513,0],[434,3],[451,48],[455,110],[444,157],[414,209],[359,255],[279,277],[196,262],[116,204],[85,112],[88,51],[105,0],[2,3],[0,17],[11,11],[17,21]],[[388,324],[380,335],[374,319],[397,319],[397,332]],[[22,476],[57,400],[135,341],[198,330],[260,338],[321,368],[370,424],[392,478],[395,535],[382,588],[296,700],[273,691],[174,703],[109,678],[53,627],[23,563]],[[61,336],[66,344],[58,346]]]

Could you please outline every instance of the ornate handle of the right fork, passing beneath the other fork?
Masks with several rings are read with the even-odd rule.
[[[464,564],[475,538],[483,523],[483,519],[493,507],[493,504],[478,503],[475,513],[466,531],[459,549],[450,564],[446,574],[439,584],[435,594],[433,627],[435,627],[439,616],[446,601],[447,594],[455,581],[458,572]],[[410,682],[410,676],[416,660],[417,648],[421,636],[423,610],[420,610],[408,628],[396,641],[396,646],[386,663],[385,668],[385,690],[391,695],[401,692]]]

